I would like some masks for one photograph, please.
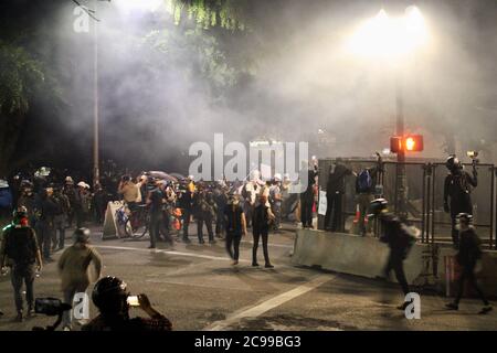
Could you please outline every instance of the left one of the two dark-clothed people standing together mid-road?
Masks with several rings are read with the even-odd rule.
[[[240,242],[246,234],[245,213],[235,195],[230,195],[228,204],[223,208],[223,218],[226,227],[226,250],[233,259],[233,265],[239,264]]]

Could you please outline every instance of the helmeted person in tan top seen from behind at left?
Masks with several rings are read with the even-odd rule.
[[[89,285],[88,266],[94,264],[97,278],[101,277],[102,257],[89,246],[91,232],[88,228],[77,228],[74,232],[74,244],[66,248],[59,258],[57,269],[61,276],[61,289],[64,301],[73,303],[74,295],[85,292]],[[71,314],[64,312],[62,319],[64,331],[71,331]]]

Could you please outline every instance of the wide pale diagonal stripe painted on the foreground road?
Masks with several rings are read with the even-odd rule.
[[[256,318],[265,313],[266,311],[269,311],[276,307],[279,307],[281,304],[295,299],[302,295],[307,293],[308,291],[316,289],[317,287],[334,280],[337,278],[337,276],[332,275],[319,275],[313,280],[308,281],[307,284],[300,285],[297,288],[294,288],[292,290],[288,290],[284,293],[281,293],[276,297],[273,297],[262,303],[256,304],[255,307],[239,311],[233,313],[231,317],[229,317],[226,320],[222,321],[215,321],[203,329],[203,331],[222,331],[225,330],[229,325],[235,323],[236,321],[244,319],[244,318]]]

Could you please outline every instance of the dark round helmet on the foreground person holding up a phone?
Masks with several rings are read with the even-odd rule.
[[[119,313],[128,297],[126,287],[127,285],[117,277],[104,277],[95,284],[92,300],[101,312]]]

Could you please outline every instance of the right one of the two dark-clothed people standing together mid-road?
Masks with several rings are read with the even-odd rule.
[[[266,205],[267,196],[261,195],[260,203],[254,208],[254,213],[252,216],[252,235],[254,236],[254,246],[252,248],[252,266],[258,266],[257,264],[257,247],[258,239],[262,238],[263,242],[263,252],[264,252],[264,260],[266,268],[273,268],[269,261],[269,254],[267,250],[267,236],[269,233],[271,223],[274,220],[274,215],[271,212],[271,207]]]

